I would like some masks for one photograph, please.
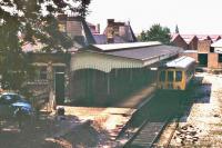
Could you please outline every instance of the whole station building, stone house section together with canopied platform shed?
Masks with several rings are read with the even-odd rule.
[[[30,63],[37,66],[38,71],[37,80],[30,82],[29,88],[44,91],[48,98],[54,96],[58,103],[110,105],[155,83],[157,67],[182,52],[182,48],[160,42],[130,40],[128,43],[95,45],[83,18],[60,16],[59,22],[60,30],[73,39],[73,47],[67,52],[46,53],[40,51],[41,47],[23,48],[32,51]],[[109,27],[118,27],[120,32],[130,29],[125,23],[113,21]]]

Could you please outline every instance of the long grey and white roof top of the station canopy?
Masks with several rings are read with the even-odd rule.
[[[119,47],[114,47],[114,46],[119,46]],[[157,57],[164,57],[164,56],[171,57],[173,55],[178,55],[179,52],[183,51],[182,48],[173,47],[173,46],[164,46],[164,45],[160,45],[160,42],[93,45],[93,46],[90,46],[89,49],[103,52],[105,55],[137,59],[137,60],[142,60],[142,61],[157,58]]]

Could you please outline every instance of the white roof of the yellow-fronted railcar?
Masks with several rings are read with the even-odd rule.
[[[193,62],[195,62],[195,59],[193,59],[191,57],[182,56],[178,59],[167,62],[167,67],[186,68],[188,66],[190,66]]]

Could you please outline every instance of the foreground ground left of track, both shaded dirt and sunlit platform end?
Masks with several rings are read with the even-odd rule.
[[[132,109],[64,107],[65,116],[40,114],[19,128],[1,120],[0,148],[94,148],[117,146],[113,138]]]

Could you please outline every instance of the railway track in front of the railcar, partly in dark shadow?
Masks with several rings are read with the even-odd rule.
[[[140,126],[135,126],[138,130],[124,145],[124,148],[154,147],[171,117],[176,116],[179,111],[176,98],[168,99],[168,96],[157,96],[150,105],[144,107],[137,115],[137,117],[141,117],[137,120]]]

